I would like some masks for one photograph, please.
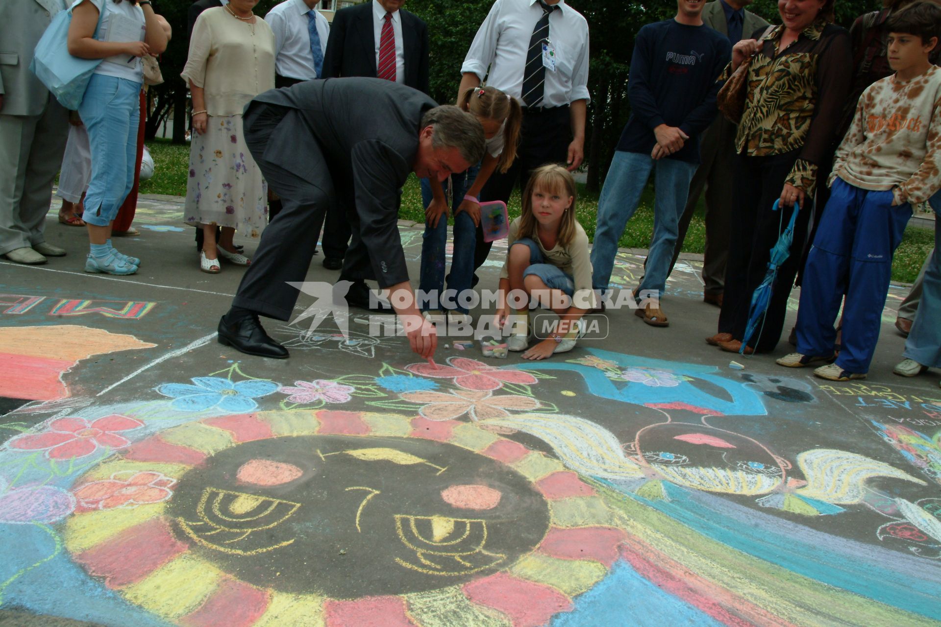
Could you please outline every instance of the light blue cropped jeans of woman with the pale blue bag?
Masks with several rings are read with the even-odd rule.
[[[78,113],[88,129],[91,180],[82,219],[107,227],[134,186],[140,83],[92,74]]]

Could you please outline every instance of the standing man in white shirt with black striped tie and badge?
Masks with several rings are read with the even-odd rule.
[[[489,68],[489,71],[487,71]],[[588,94],[588,23],[565,0],[496,0],[461,67],[458,93],[486,84],[517,98],[523,126],[517,160],[494,172],[480,199],[509,200],[514,184],[547,163],[569,170],[584,158]],[[490,252],[478,228],[474,268]],[[475,281],[476,282],[476,281]]]

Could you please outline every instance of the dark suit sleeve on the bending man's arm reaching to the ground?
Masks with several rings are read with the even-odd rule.
[[[380,288],[408,280],[406,256],[399,237],[399,188],[409,165],[377,139],[359,142],[350,154],[359,236],[369,251]]]

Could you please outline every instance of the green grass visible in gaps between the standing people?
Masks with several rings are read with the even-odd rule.
[[[173,146],[167,140],[153,140],[147,143],[155,164],[153,178],[140,184],[141,194],[186,195],[186,176],[189,172],[189,146]],[[510,197],[507,211],[510,219],[519,215],[518,190]],[[690,223],[686,239],[683,242],[684,253],[702,253],[706,245],[706,225],[703,221],[703,201]],[[582,223],[589,239],[594,239],[595,225],[598,218],[598,195],[589,194],[584,185],[579,185],[579,198],[576,203],[579,222]],[[399,217],[413,222],[424,221],[422,191],[414,175],[408,177],[402,193],[402,207]],[[449,220],[450,221],[450,220]],[[646,248],[650,245],[653,233],[653,190],[649,186],[641,196],[641,206],[630,219],[628,227],[618,244],[625,248]],[[892,263],[892,280],[912,283],[934,247],[934,233],[927,228],[908,228],[895,253]]]

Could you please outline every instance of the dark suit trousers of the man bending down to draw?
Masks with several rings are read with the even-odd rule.
[[[262,242],[232,301],[234,306],[283,321],[290,319],[297,302],[298,290],[288,285],[288,281],[304,280],[317,246],[316,232],[311,225],[323,220],[336,197],[327,160],[319,150],[314,163],[310,164],[313,166],[310,179],[265,161],[264,149],[271,133],[282,120],[292,123],[285,118],[295,115],[293,110],[272,105],[255,106],[245,115],[248,149],[268,185],[281,197],[282,208],[278,219],[264,229]],[[303,128],[300,121],[297,124],[298,128]],[[303,141],[314,140],[309,137]],[[311,154],[314,152],[311,149]]]

